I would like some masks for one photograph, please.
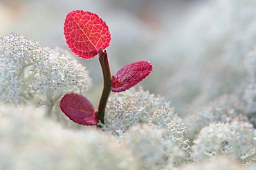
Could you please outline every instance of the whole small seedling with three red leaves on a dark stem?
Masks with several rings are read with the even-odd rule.
[[[60,109],[73,122],[80,125],[98,125],[104,123],[104,111],[109,93],[124,92],[134,87],[152,72],[149,61],[137,61],[122,67],[116,76],[112,75],[109,68],[107,51],[111,41],[111,34],[107,24],[92,12],[74,10],[68,12],[64,22],[64,35],[71,51],[82,59],[92,59],[98,54],[104,87],[95,111],[91,102],[81,94],[66,94],[60,101]]]

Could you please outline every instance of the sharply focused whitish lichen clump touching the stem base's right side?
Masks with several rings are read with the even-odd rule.
[[[138,123],[152,124],[157,127],[172,126],[172,120],[181,122],[170,103],[161,96],[155,96],[142,87],[131,88],[122,93],[112,93],[106,106],[102,129],[111,131],[117,136],[125,133],[131,125]],[[182,123],[181,123],[182,124]],[[184,125],[177,125],[183,133]]]

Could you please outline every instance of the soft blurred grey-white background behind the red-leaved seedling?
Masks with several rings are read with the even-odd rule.
[[[256,0],[0,0],[0,36],[15,32],[42,46],[68,49],[66,14],[97,13],[111,32],[112,74],[134,61],[151,61],[154,71],[140,85],[172,100],[183,116],[221,94],[239,93],[244,56],[256,40],[255,7]],[[100,97],[98,59],[77,60],[93,78],[88,95]]]

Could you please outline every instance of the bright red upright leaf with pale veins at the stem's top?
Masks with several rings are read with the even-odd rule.
[[[68,47],[82,59],[93,58],[111,40],[107,24],[97,14],[83,10],[68,12],[64,35]]]

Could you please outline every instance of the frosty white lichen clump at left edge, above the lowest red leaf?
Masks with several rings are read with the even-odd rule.
[[[85,68],[67,52],[19,34],[0,39],[0,65],[0,101],[46,105],[48,114],[61,96],[84,92],[90,83]]]

